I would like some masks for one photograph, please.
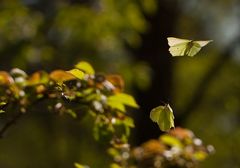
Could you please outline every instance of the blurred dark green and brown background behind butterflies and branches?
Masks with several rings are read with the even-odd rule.
[[[169,36],[214,42],[194,58],[172,58]],[[161,134],[149,112],[165,102],[177,126],[215,146],[200,167],[240,167],[240,1],[0,2],[1,70],[67,70],[80,60],[122,75],[136,97],[133,146]],[[0,140],[0,167],[106,167],[87,121],[33,109]]]

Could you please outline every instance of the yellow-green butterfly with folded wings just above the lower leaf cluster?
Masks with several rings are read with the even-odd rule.
[[[162,131],[168,131],[174,127],[174,115],[169,104],[158,106],[150,112],[150,118],[156,122]]]

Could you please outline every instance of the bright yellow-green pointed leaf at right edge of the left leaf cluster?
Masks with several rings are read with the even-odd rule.
[[[125,105],[138,108],[138,104],[136,103],[135,99],[128,94],[125,93],[118,93],[113,96],[109,96],[107,100],[107,105],[114,109],[118,109],[120,111],[125,112]]]

